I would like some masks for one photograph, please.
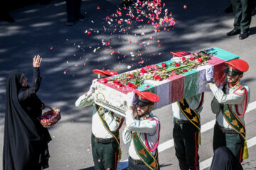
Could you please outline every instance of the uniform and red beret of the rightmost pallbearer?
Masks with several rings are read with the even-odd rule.
[[[225,71],[227,74],[242,74],[248,69],[243,60],[232,60],[226,64],[229,69]],[[227,83],[220,88],[210,83],[210,90],[214,95],[211,108],[216,114],[213,150],[221,146],[228,147],[241,163],[245,147],[245,111],[250,102],[250,89],[238,81],[237,84]]]

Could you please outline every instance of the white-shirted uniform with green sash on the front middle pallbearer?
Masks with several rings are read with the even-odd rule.
[[[139,105],[139,103],[137,104]],[[129,146],[129,170],[159,169],[157,151],[159,134],[160,122],[152,113],[141,118],[138,116],[134,118],[132,110],[126,112],[126,127],[122,137],[124,144],[131,143]]]

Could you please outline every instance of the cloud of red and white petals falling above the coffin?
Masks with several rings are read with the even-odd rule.
[[[111,13],[104,18],[102,29],[95,30],[95,27],[91,27],[85,30],[85,34],[87,35],[95,35],[95,33],[105,35],[105,33],[110,32],[110,38],[112,38],[112,40],[110,38],[105,38],[105,40],[101,40],[101,43],[97,43],[97,46],[85,45],[85,43],[82,42],[81,44],[79,42],[79,45],[78,42],[75,42],[77,45],[75,45],[75,43],[74,45],[84,52],[86,51],[86,48],[90,49],[92,52],[90,53],[90,56],[92,56],[93,53],[96,53],[94,55],[95,57],[100,57],[97,55],[97,53],[99,53],[99,55],[101,54],[99,52],[100,50],[107,50],[107,52],[105,51],[104,53],[107,53],[109,57],[117,57],[119,64],[126,62],[125,57],[132,57],[134,63],[145,64],[145,62],[148,62],[150,59],[144,57],[142,59],[144,52],[146,52],[146,54],[149,52],[149,57],[152,49],[161,47],[160,40],[157,38],[158,32],[172,30],[174,29],[172,26],[176,24],[176,20],[173,18],[173,13],[165,6],[166,4],[161,3],[161,0],[137,0],[134,1],[134,4],[129,6],[129,8],[118,7],[114,13]],[[186,8],[186,5],[183,7]],[[97,6],[97,10],[100,10],[100,6]],[[90,24],[92,23],[95,23],[95,21],[90,22]],[[149,30],[149,27],[152,29]],[[134,28],[139,28],[139,33],[133,34],[134,38],[136,38],[135,40],[134,38],[129,38],[128,40],[123,38],[122,35],[131,35],[130,33],[132,32],[130,31],[134,31]],[[152,35],[151,33],[157,34],[155,34],[154,37],[149,37],[149,35]],[[154,41],[154,38],[156,41]],[[99,40],[99,38],[97,39]],[[68,41],[68,38],[65,40]],[[117,42],[117,40],[119,42]],[[144,42],[142,42],[142,40],[144,40]],[[138,45],[136,45],[137,42]],[[124,43],[122,45],[122,47],[125,47],[124,50],[121,50],[121,48],[117,49],[117,45],[120,45],[120,43]],[[125,52],[129,52],[130,54],[125,54]],[[154,52],[151,54],[157,57],[162,53]],[[105,57],[105,61],[108,59],[108,57]],[[90,57],[85,60],[90,61]],[[127,60],[131,61],[130,59]],[[102,60],[97,58],[96,61],[101,62]],[[127,65],[127,69],[135,66],[133,66],[133,62],[130,65]],[[78,64],[83,64],[85,66],[85,61],[82,62],[82,58],[80,57],[80,62]],[[78,64],[75,66],[78,66]],[[104,65],[107,65],[107,63]],[[74,64],[69,65],[69,67],[74,67]]]

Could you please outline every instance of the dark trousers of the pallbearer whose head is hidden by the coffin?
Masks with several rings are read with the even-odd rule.
[[[181,170],[199,169],[198,132],[192,123],[178,124],[174,121],[174,148]]]

